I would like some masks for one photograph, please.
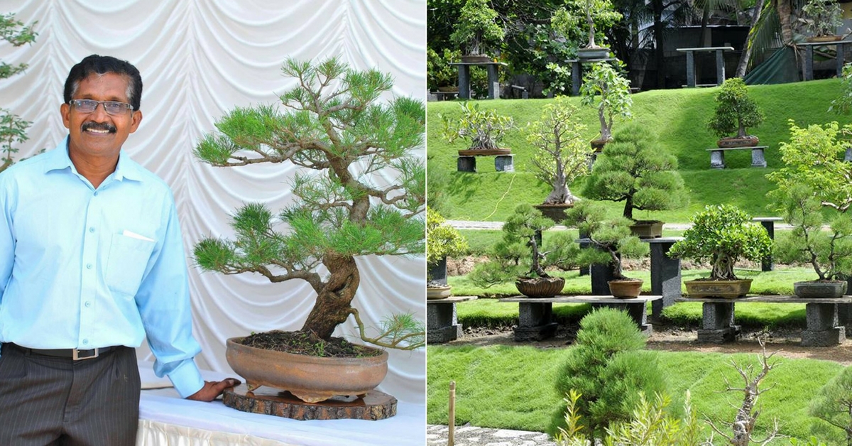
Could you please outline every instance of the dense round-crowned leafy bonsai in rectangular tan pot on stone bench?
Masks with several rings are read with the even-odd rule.
[[[759,262],[771,250],[763,226],[736,206],[717,205],[694,215],[692,228],[683,231],[683,240],[671,246],[669,256],[711,264],[710,277],[683,282],[689,297],[739,298],[751,289],[751,279],[738,279],[734,264],[740,258]]]

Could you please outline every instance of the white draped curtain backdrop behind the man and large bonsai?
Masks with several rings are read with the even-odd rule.
[[[199,367],[231,371],[227,338],[302,327],[314,304],[307,283],[202,273],[191,257],[204,235],[233,234],[228,221],[242,203],[259,201],[273,210],[291,203],[294,166],[215,168],[194,159],[193,147],[227,110],[278,102],[294,85],[280,71],[288,56],[337,55],[355,68],[377,67],[395,79],[385,100],[425,101],[426,0],[3,0],[0,14],[7,13],[38,20],[36,43],[0,43],[0,60],[30,65],[0,81],[0,107],[33,122],[19,158],[54,148],[67,135],[59,113],[62,88],[83,57],[112,55],[141,71],[143,119],[124,149],[175,193],[190,265],[193,333],[204,349]],[[418,155],[425,156],[424,148]],[[358,258],[358,265],[353,304],[366,324],[400,312],[425,321],[423,255]],[[357,338],[351,318],[337,335]],[[139,353],[153,359],[145,346]],[[422,349],[391,350],[379,389],[425,403],[425,362]]]

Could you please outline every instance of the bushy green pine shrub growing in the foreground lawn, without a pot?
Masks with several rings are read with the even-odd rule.
[[[625,312],[602,308],[580,321],[577,342],[567,350],[556,377],[556,392],[583,395],[576,406],[582,432],[603,437],[608,426],[630,420],[639,392],[665,391],[665,380],[655,354],[642,351],[645,337]],[[553,414],[548,432],[555,435],[565,425],[566,404]]]

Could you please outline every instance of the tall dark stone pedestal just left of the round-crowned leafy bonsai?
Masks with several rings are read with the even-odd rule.
[[[653,321],[659,321],[663,309],[681,297],[681,259],[668,256],[669,249],[678,240],[683,237],[642,239],[651,248],[651,294],[663,296],[651,303]]]

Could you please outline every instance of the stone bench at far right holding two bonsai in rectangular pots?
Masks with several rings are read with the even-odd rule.
[[[852,304],[852,296],[843,298],[799,298],[797,296],[747,296],[745,298],[678,298],[676,302],[702,304],[699,342],[722,344],[740,336],[740,326],[734,325],[734,304],[763,302],[769,304],[805,304],[806,327],[802,345],[830,347],[846,339],[846,328],[838,321],[838,304]]]

